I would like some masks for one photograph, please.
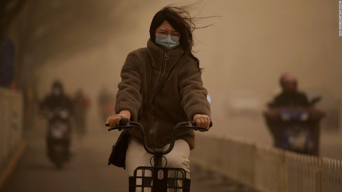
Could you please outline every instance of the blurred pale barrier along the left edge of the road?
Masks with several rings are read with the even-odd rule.
[[[23,132],[21,92],[0,88],[0,173],[14,155]]]

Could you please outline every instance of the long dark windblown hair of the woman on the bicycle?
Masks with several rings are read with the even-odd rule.
[[[150,38],[152,42],[155,43],[156,36],[155,31],[156,29],[165,21],[167,20],[170,25],[177,31],[180,32],[181,38],[180,38],[180,45],[183,47],[183,51],[188,56],[192,57],[196,63],[197,67],[203,71],[203,68],[199,67],[199,59],[193,54],[195,53],[192,50],[192,47],[194,46],[194,40],[193,40],[193,31],[198,28],[205,28],[211,25],[207,25],[204,27],[196,27],[198,19],[202,18],[210,18],[210,17],[191,17],[189,12],[192,10],[195,10],[199,5],[206,4],[202,1],[195,2],[190,5],[185,6],[172,6],[168,5],[164,8],[162,8],[160,11],[158,11],[151,22],[150,26]],[[217,17],[217,16],[211,16],[211,17]]]

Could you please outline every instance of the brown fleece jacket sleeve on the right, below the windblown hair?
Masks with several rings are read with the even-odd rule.
[[[210,117],[210,104],[207,100],[208,91],[203,87],[202,72],[196,63],[187,63],[180,71],[179,93],[182,99],[181,105],[189,120],[194,115],[202,114]]]

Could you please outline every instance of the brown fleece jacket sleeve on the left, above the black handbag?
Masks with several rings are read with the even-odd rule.
[[[131,120],[137,120],[142,97],[140,94],[141,80],[139,68],[133,56],[129,53],[121,69],[121,82],[118,84],[119,91],[116,94],[115,113],[121,110],[129,110]]]

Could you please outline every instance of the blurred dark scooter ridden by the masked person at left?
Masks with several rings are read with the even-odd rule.
[[[56,108],[48,112],[49,128],[47,132],[48,157],[57,168],[70,158],[70,114],[68,110]]]

